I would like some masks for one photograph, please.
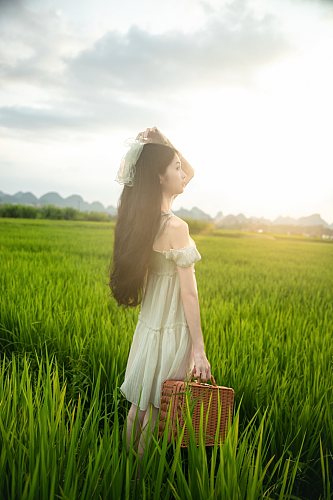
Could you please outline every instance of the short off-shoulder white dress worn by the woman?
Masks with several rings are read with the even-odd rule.
[[[167,215],[165,221],[172,216],[171,211],[162,214]],[[122,395],[141,410],[146,410],[149,403],[159,408],[163,381],[184,380],[194,366],[177,271],[177,266],[188,267],[201,260],[192,238],[191,241],[193,245],[180,249],[152,251],[125,378],[120,386]]]

